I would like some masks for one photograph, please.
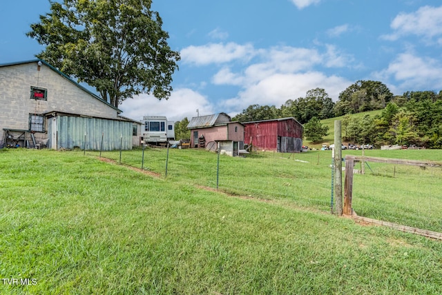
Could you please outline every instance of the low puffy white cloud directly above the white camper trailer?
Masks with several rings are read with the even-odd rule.
[[[213,106],[202,94],[182,88],[174,90],[168,100],[159,101],[152,95],[141,94],[133,99],[126,99],[119,107],[123,116],[135,120],[142,120],[143,116],[167,116],[172,121],[188,119],[200,114],[213,114]]]

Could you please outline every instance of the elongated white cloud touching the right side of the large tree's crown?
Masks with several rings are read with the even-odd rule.
[[[183,63],[208,65],[210,63],[227,63],[229,61],[249,60],[255,54],[253,45],[239,45],[236,43],[209,43],[202,46],[189,46],[181,50]]]

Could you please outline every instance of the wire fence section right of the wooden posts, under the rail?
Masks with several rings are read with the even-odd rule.
[[[441,179],[441,167],[367,162],[365,174],[354,175],[352,207],[358,216],[442,232]]]

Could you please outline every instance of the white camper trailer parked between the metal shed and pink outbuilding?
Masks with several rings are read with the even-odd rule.
[[[166,143],[175,140],[175,125],[166,116],[144,116],[142,141],[145,143]]]

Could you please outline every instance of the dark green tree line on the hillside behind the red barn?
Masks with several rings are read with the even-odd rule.
[[[376,116],[349,116],[383,110]],[[356,81],[340,92],[336,103],[323,88],[305,97],[275,105],[249,105],[233,121],[261,121],[294,117],[305,127],[305,139],[318,142],[327,135],[322,119],[343,116],[343,140],[380,145],[420,145],[442,148],[442,91],[412,91],[394,96],[379,81]]]

